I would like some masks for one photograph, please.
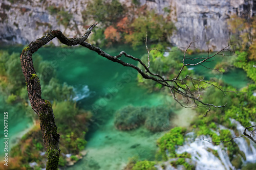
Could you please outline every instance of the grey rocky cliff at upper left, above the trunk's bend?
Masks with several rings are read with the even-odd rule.
[[[12,2],[12,3],[11,3]],[[81,11],[86,5],[82,1],[3,1],[0,12],[0,41],[8,44],[28,44],[52,29],[59,29],[69,37],[84,33]],[[56,8],[55,8],[56,7]],[[69,28],[57,19],[58,9],[72,16]],[[53,40],[58,45],[57,40]]]

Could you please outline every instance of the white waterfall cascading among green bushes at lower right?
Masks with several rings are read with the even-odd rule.
[[[244,127],[234,119],[230,119],[231,123],[237,125],[237,130],[239,135],[242,135]],[[220,129],[226,129],[225,127],[220,127]],[[230,130],[232,136],[236,136],[233,130]],[[195,141],[194,133],[187,133],[185,138],[186,141],[184,145],[177,149],[177,153],[181,154],[187,152],[191,154],[191,160],[196,162],[196,170],[229,170],[234,169],[234,166],[231,164],[229,157],[227,155],[226,149],[224,149],[223,144],[213,145],[207,141]],[[204,139],[211,141],[211,138],[208,136],[198,136],[198,139]],[[239,149],[244,152],[246,160],[245,162],[256,162],[256,144],[251,140],[246,140],[245,138],[236,138],[234,142],[238,144]],[[217,151],[217,154],[212,154],[212,150]]]

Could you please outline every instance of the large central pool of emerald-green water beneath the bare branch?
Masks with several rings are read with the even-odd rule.
[[[118,54],[115,49],[106,51],[112,55]],[[141,57],[145,52],[128,50],[128,53],[136,57]],[[47,60],[56,60],[40,51],[39,54]],[[129,132],[116,130],[114,113],[127,105],[171,105],[172,97],[159,92],[147,93],[145,88],[137,85],[137,74],[131,68],[113,63],[84,48],[77,48],[72,56],[62,56],[59,59],[58,78],[75,87],[88,85],[92,97],[79,101],[78,104],[93,110],[97,118],[97,124],[92,125],[87,134],[87,156],[70,169],[121,169],[133,156],[141,160],[153,160],[157,150],[156,140],[163,133],[152,133],[143,127]],[[128,62],[129,59],[125,61]]]

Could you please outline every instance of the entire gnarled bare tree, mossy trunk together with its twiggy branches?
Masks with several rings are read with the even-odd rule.
[[[60,42],[63,44],[66,44],[69,46],[82,45],[84,47],[89,48],[92,51],[95,51],[100,56],[105,57],[113,62],[117,62],[123,66],[132,67],[132,68],[136,69],[138,71],[138,73],[144,79],[151,79],[165,87],[168,87],[170,92],[173,94],[174,99],[183,107],[203,106],[208,109],[207,110],[207,112],[208,112],[211,107],[220,108],[220,107],[224,107],[226,105],[225,104],[225,105],[221,105],[221,106],[215,106],[214,104],[204,103],[203,101],[201,101],[201,98],[200,98],[201,91],[205,90],[209,86],[213,86],[214,88],[221,90],[223,92],[223,95],[225,95],[224,92],[226,92],[226,91],[223,91],[222,89],[220,89],[219,87],[215,86],[214,84],[212,84],[210,82],[207,82],[205,80],[200,80],[200,79],[194,79],[194,78],[190,77],[189,75],[187,75],[184,78],[179,78],[179,77],[181,75],[183,68],[188,65],[190,65],[190,66],[202,65],[202,63],[208,62],[209,59],[212,59],[217,55],[224,56],[224,54],[222,52],[229,50],[230,45],[227,45],[225,48],[223,48],[219,52],[215,53],[214,55],[210,56],[209,55],[210,51],[208,51],[207,57],[191,59],[191,58],[185,57],[185,54],[186,54],[188,48],[190,48],[191,44],[193,44],[195,41],[191,42],[184,52],[184,57],[183,57],[183,61],[182,61],[183,66],[181,67],[178,76],[173,79],[166,79],[159,74],[154,74],[149,69],[149,67],[150,67],[150,60],[149,60],[150,51],[156,50],[156,49],[148,50],[148,48],[146,46],[146,50],[148,52],[148,63],[147,63],[148,66],[146,66],[146,64],[144,64],[140,59],[135,58],[131,55],[128,55],[123,51],[120,52],[116,56],[111,56],[108,53],[105,53],[104,51],[102,51],[99,47],[96,47],[90,43],[85,42],[86,39],[88,38],[88,36],[90,35],[92,29],[96,25],[97,25],[97,23],[95,23],[94,25],[91,25],[89,27],[89,29],[86,31],[86,33],[83,36],[78,37],[78,38],[67,38],[59,30],[51,30],[46,35],[37,39],[35,42],[31,42],[27,47],[24,48],[22,54],[20,54],[20,61],[22,64],[23,74],[26,79],[29,100],[30,100],[32,109],[37,113],[37,115],[39,117],[40,127],[41,127],[41,131],[42,131],[42,138],[44,141],[46,151],[48,153],[48,161],[47,161],[46,169],[55,170],[58,168],[58,161],[59,161],[59,154],[60,154],[59,145],[58,145],[59,144],[59,134],[57,133],[57,126],[54,122],[54,114],[53,114],[51,103],[48,100],[44,100],[41,98],[40,80],[37,77],[36,71],[34,69],[32,54],[35,53],[41,46],[47,44],[55,37],[57,37],[60,40]],[[138,66],[133,65],[131,63],[123,62],[122,60],[120,60],[121,56],[138,61],[143,66],[144,70],[141,70]],[[187,64],[184,62],[185,59],[189,59],[189,60],[201,59],[201,61],[196,64]],[[202,66],[204,66],[204,65],[202,65]],[[188,85],[186,83],[186,81],[189,81],[190,85]],[[204,87],[203,85],[202,86],[196,85],[196,84],[199,84],[202,82],[208,86]],[[180,94],[183,97],[185,105],[178,101],[178,99],[176,98],[177,94]],[[193,103],[193,105],[191,105],[190,103]],[[206,112],[206,114],[207,114],[207,112]],[[246,129],[245,129],[245,131],[246,131]],[[255,130],[252,132],[255,132]],[[245,133],[245,135],[247,136],[246,133]],[[248,135],[247,137],[252,139],[251,135]]]

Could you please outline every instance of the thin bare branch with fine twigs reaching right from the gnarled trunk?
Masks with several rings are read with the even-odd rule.
[[[195,42],[195,41],[194,41],[194,42]],[[192,43],[194,43],[194,42],[192,42]],[[191,43],[191,44],[192,44],[192,43]],[[183,68],[184,68],[185,66],[188,66],[188,65],[196,66],[196,65],[199,65],[199,64],[201,64],[201,63],[203,63],[203,62],[206,62],[208,59],[211,59],[212,57],[215,57],[216,55],[218,55],[218,54],[221,53],[222,51],[225,51],[225,50],[229,49],[230,45],[227,45],[227,46],[224,47],[221,51],[217,52],[216,54],[214,54],[214,55],[212,55],[212,56],[210,56],[210,57],[208,56],[207,58],[203,58],[203,61],[200,61],[200,62],[198,62],[198,63],[196,63],[196,64],[185,64],[185,63],[184,63],[184,60],[183,60],[183,66],[182,66],[182,68],[180,69],[178,76],[177,76],[176,78],[174,78],[174,79],[165,79],[165,78],[163,78],[163,77],[162,77],[161,75],[159,75],[159,74],[154,74],[153,72],[150,71],[150,69],[148,68],[148,66],[146,66],[140,59],[135,58],[135,57],[133,57],[133,56],[131,56],[131,55],[129,55],[129,54],[126,54],[126,53],[123,52],[123,51],[120,52],[117,56],[111,56],[111,55],[109,55],[108,53],[102,51],[99,47],[96,47],[96,46],[94,46],[94,45],[92,45],[92,44],[90,44],[90,43],[88,43],[88,42],[82,42],[80,45],[82,45],[82,46],[84,46],[84,47],[87,47],[87,48],[89,48],[89,49],[92,50],[92,51],[95,51],[95,52],[98,53],[100,56],[105,57],[105,58],[107,58],[107,59],[109,59],[109,60],[111,60],[111,61],[113,61],[113,62],[117,62],[117,63],[119,63],[119,64],[122,64],[123,66],[132,67],[132,68],[136,69],[136,70],[138,71],[138,73],[139,73],[144,79],[151,79],[151,80],[153,80],[153,81],[155,81],[155,82],[161,84],[162,86],[165,86],[165,87],[170,88],[171,91],[172,91],[172,94],[174,94],[174,99],[175,99],[178,103],[180,103],[180,102],[179,102],[179,101],[177,100],[177,98],[175,97],[175,94],[176,94],[176,93],[182,95],[184,98],[186,98],[186,100],[191,100],[191,101],[193,101],[194,104],[195,104],[195,106],[184,106],[184,105],[182,105],[182,104],[180,103],[183,107],[207,106],[207,107],[221,108],[221,107],[225,107],[225,106],[226,106],[226,104],[221,105],[221,106],[216,106],[216,105],[214,105],[214,104],[208,104],[208,103],[204,103],[203,101],[201,101],[198,97],[195,96],[195,94],[198,93],[199,91],[202,91],[203,89],[199,89],[199,90],[197,90],[197,91],[192,91],[192,90],[190,90],[190,89],[188,88],[187,83],[184,81],[186,78],[190,78],[190,79],[193,80],[193,81],[204,82],[205,84],[208,84],[208,85],[210,85],[210,86],[214,86],[215,88],[221,90],[221,91],[223,92],[223,95],[225,95],[224,92],[233,92],[233,91],[225,91],[225,90],[222,90],[222,89],[220,89],[218,86],[216,86],[216,85],[214,85],[214,84],[212,84],[212,83],[210,83],[210,82],[207,82],[207,81],[205,81],[205,80],[200,80],[200,79],[194,79],[194,78],[191,78],[191,77],[188,76],[188,75],[187,75],[184,79],[179,79],[179,76],[180,76],[180,74],[181,74],[181,72],[182,72],[182,70],[183,70]],[[150,51],[150,50],[147,49],[147,51]],[[138,61],[138,62],[143,66],[143,68],[145,69],[145,72],[144,72],[143,70],[141,70],[141,69],[140,69],[138,66],[136,66],[136,65],[133,65],[133,64],[130,64],[130,63],[125,63],[125,62],[123,62],[122,60],[120,60],[119,58],[120,58],[122,55],[123,55],[124,57],[131,58],[131,59],[133,59],[133,60],[135,60],[135,61]],[[186,57],[184,57],[184,58],[186,58]],[[148,74],[147,74],[147,73],[148,73]],[[169,84],[169,82],[173,82],[175,85],[173,85],[173,83],[172,83],[172,84]],[[182,85],[180,85],[179,82],[180,82],[180,83],[183,83],[183,84],[186,86],[186,88],[182,87]]]

